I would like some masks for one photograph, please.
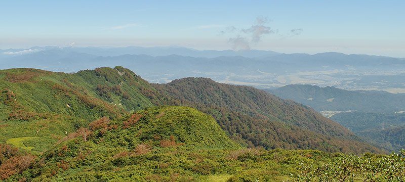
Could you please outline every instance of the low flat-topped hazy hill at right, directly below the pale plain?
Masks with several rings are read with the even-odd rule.
[[[331,86],[286,85],[267,92],[310,106],[317,111],[405,111],[405,94],[382,91],[343,90]]]

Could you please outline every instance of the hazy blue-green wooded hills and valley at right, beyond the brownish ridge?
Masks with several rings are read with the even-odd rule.
[[[405,147],[401,145],[404,140],[401,126],[405,125],[401,114],[405,111],[404,94],[312,85],[287,85],[267,91],[309,105],[317,111],[330,111],[325,114],[332,120],[375,146],[388,151]]]

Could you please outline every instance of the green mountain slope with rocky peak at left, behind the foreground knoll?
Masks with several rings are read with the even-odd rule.
[[[75,74],[8,69],[0,78],[0,141],[34,152],[95,119],[154,106],[140,91],[149,83],[122,67]]]

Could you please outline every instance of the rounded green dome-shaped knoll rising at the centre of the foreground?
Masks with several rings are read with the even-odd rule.
[[[115,145],[128,143],[129,147],[135,147],[139,143],[172,138],[171,140],[186,146],[238,148],[238,145],[229,139],[212,117],[189,107],[147,108],[122,116],[110,124],[104,121],[98,122],[97,126],[97,122],[90,124],[93,129],[101,128],[96,135],[105,135],[104,140]],[[109,127],[117,127],[117,129],[104,131],[103,128]]]

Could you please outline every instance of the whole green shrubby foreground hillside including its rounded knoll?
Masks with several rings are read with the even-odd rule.
[[[8,164],[0,166],[4,181],[298,180],[302,165],[353,158],[314,150],[241,148],[208,115],[177,106],[147,108],[111,120],[103,117],[37,157],[5,145],[0,150],[12,151],[0,156],[2,164]],[[359,159],[384,161],[383,157],[367,154]]]

